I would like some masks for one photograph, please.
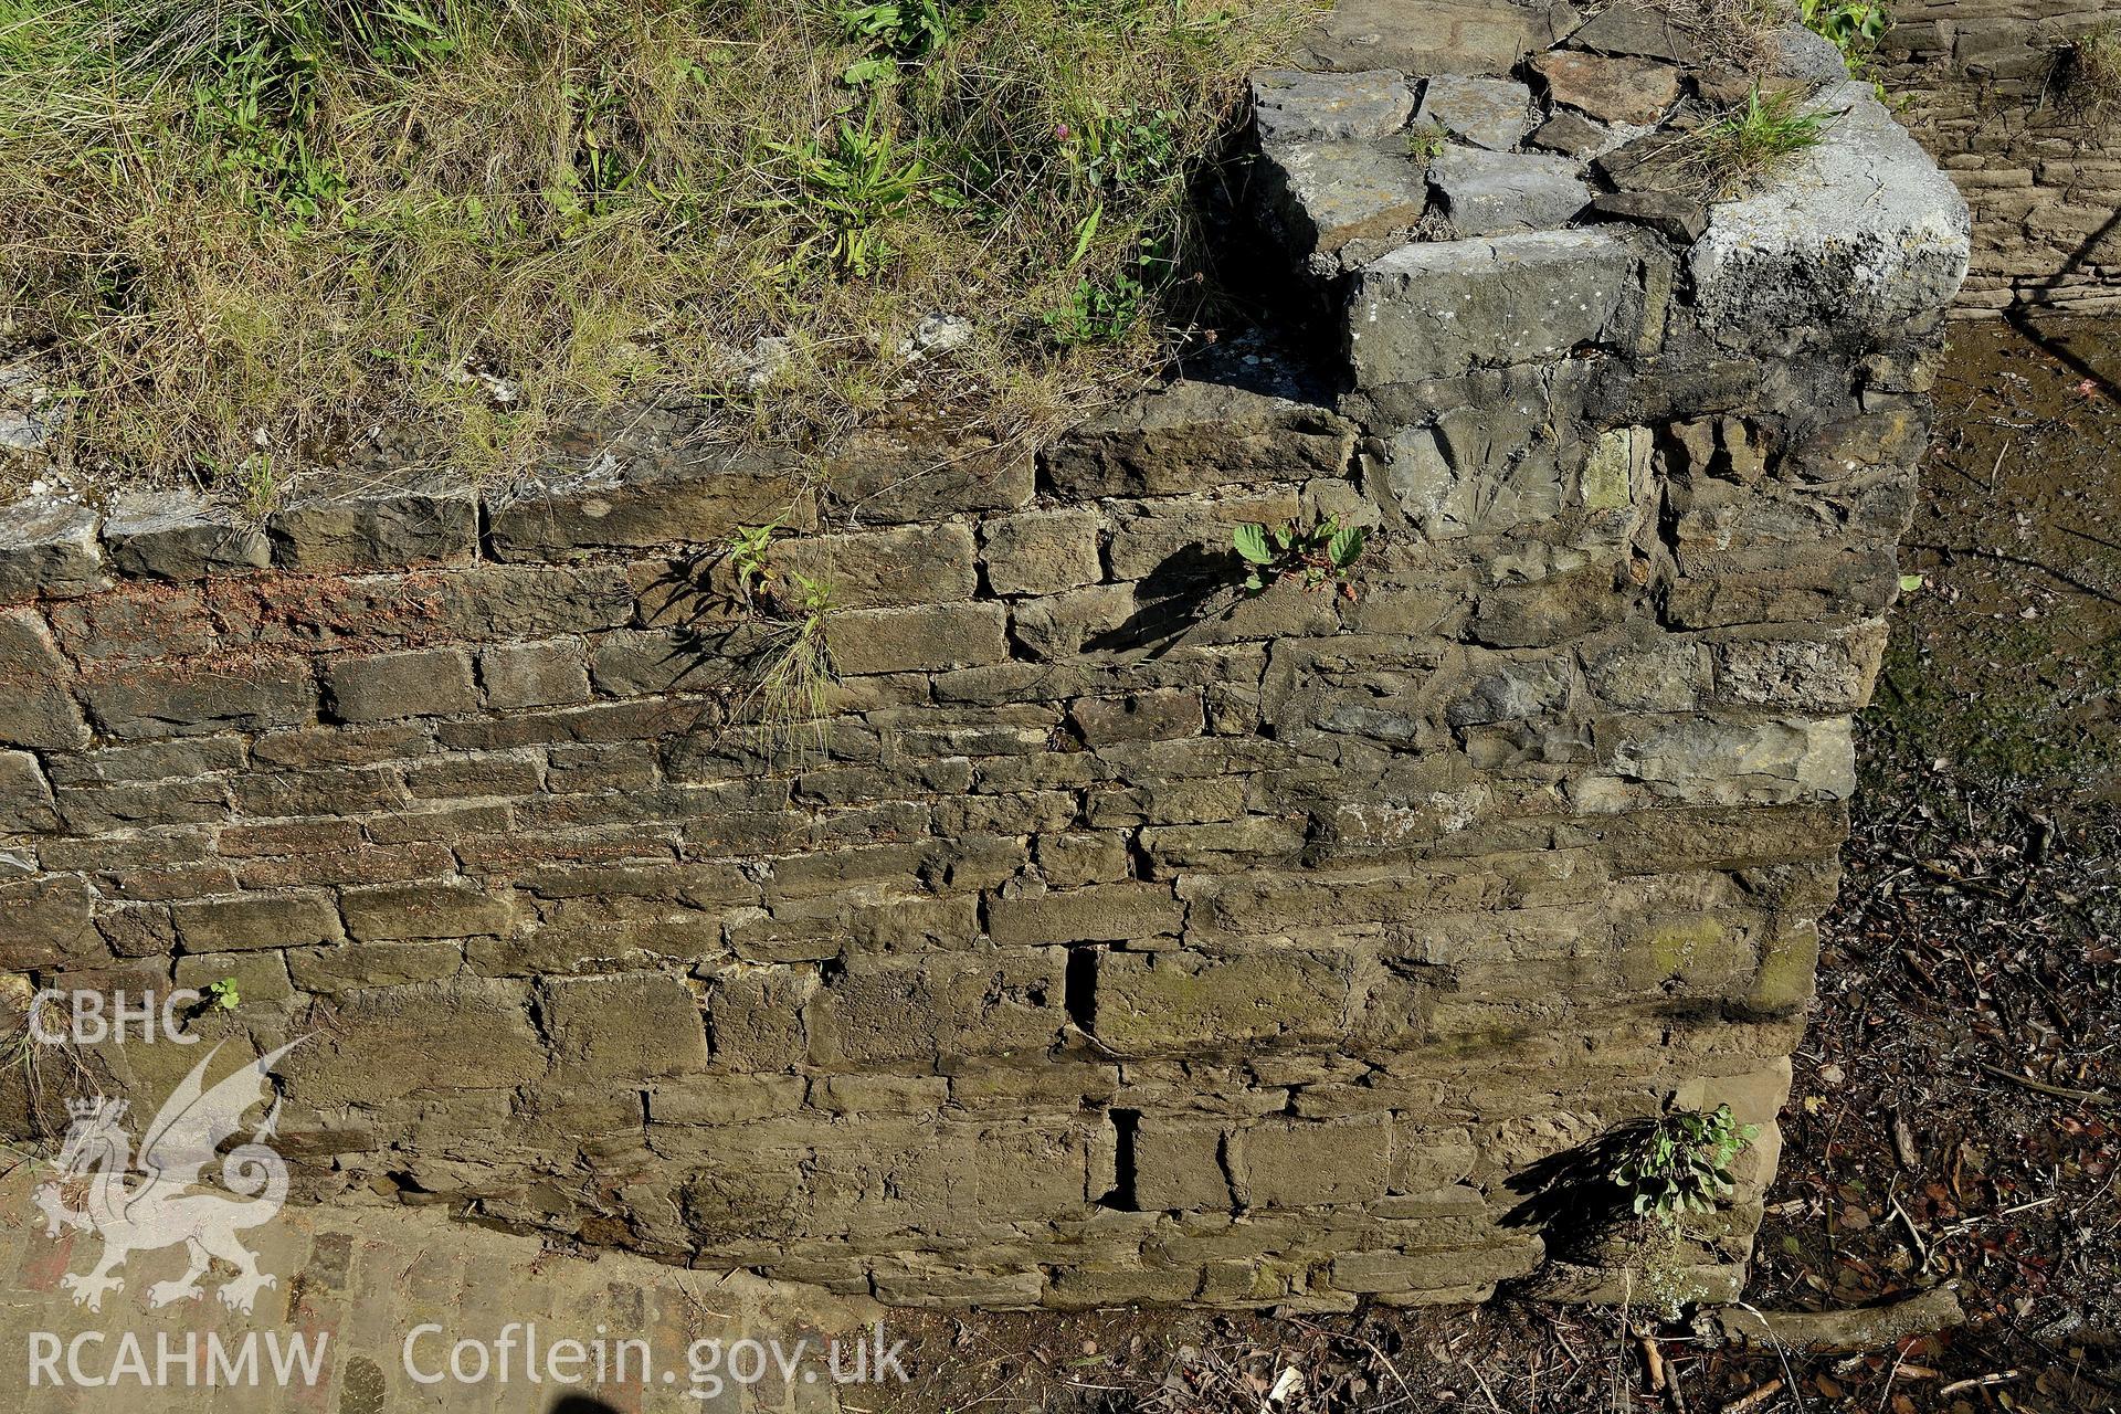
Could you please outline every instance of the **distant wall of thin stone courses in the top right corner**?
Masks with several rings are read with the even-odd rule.
[[[2121,307],[2121,112],[2087,114],[2070,42],[2121,23],[2079,0],[1898,0],[1879,81],[1966,193],[1960,310]]]

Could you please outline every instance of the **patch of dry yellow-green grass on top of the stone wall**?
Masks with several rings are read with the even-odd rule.
[[[62,458],[267,509],[679,401],[1016,432],[1171,341],[1296,0],[0,0],[0,335]],[[940,316],[940,318],[937,318]]]

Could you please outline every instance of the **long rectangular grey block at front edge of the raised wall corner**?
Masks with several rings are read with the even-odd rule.
[[[1347,356],[1362,386],[1561,358],[1616,337],[1633,254],[1612,231],[1413,244],[1355,273]]]

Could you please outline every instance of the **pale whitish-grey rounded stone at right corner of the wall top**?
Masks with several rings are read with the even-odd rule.
[[[1695,242],[1701,322],[1724,343],[1892,335],[1966,273],[1966,199],[1871,87],[1833,85],[1807,108],[1841,117],[1771,189],[1712,208]]]

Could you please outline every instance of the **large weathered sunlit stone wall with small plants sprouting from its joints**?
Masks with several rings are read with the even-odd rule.
[[[199,988],[299,1194],[889,1302],[1447,1302],[1610,1272],[1538,1174],[1763,1128],[1813,992],[1966,212],[1866,85],[1743,199],[1659,11],[1343,4],[1256,78],[1332,331],[1046,449],[666,416],[501,490],[0,526],[0,962]],[[1637,180],[1642,178],[1642,180]],[[1230,532],[1366,526],[1353,596]],[[747,725],[831,581],[825,721]],[[144,1102],[178,1047],[81,1060]],[[32,1098],[15,1096],[28,1128]]]

